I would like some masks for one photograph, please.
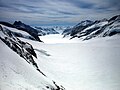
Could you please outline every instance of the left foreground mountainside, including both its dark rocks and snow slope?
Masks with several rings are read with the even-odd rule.
[[[34,47],[17,38],[14,30],[0,25],[0,89],[65,90],[41,71]]]

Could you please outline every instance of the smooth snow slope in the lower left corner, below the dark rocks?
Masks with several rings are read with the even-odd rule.
[[[0,90],[46,90],[46,86],[55,87],[0,40]]]

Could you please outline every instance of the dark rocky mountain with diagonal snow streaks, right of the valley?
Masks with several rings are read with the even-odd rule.
[[[81,38],[88,40],[94,37],[113,36],[120,33],[120,15],[116,15],[111,19],[102,19],[96,21],[82,21],[73,28],[66,29],[62,34],[64,37]]]

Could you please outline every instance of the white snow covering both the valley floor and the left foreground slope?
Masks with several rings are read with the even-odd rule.
[[[40,38],[44,43],[20,39],[33,45],[39,68],[66,90],[120,89],[120,36],[84,42],[61,35]],[[0,49],[2,90],[44,90],[44,85],[51,84],[2,41]]]

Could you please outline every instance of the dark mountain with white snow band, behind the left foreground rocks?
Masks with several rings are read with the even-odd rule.
[[[22,37],[22,38],[37,40],[42,42],[38,37],[37,30],[30,27],[29,25],[22,23],[21,21],[18,21],[18,22],[15,21],[14,24],[10,24],[8,22],[0,22],[0,24],[5,29],[11,30],[14,36],[16,37]]]

